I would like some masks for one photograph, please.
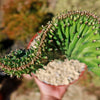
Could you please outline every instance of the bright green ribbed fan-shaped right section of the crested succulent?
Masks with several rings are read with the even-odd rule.
[[[100,75],[100,20],[96,15],[86,11],[62,13],[43,28],[42,37],[41,55],[49,61],[55,59],[50,52],[58,52]]]

